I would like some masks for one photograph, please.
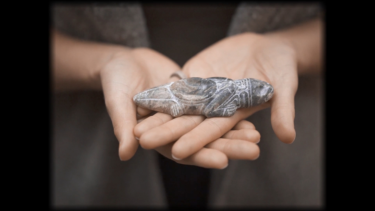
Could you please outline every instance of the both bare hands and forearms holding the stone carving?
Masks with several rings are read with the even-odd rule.
[[[271,106],[275,134],[284,143],[293,142],[297,74],[321,69],[321,25],[316,20],[282,32],[225,38],[183,66],[188,77],[257,78],[274,86],[269,102],[238,109],[231,117],[172,118],[164,113],[148,117],[151,111],[136,107],[133,96],[178,80],[169,78],[180,70],[176,63],[148,48],[85,42],[52,31],[54,89],[103,90],[119,141],[120,160],[129,160],[140,143],[178,163],[221,169],[228,159],[254,160],[259,156],[255,143],[260,134],[243,119],[266,107]]]

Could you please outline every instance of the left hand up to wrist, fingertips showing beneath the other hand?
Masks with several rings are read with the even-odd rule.
[[[148,48],[135,48],[117,52],[100,71],[105,103],[113,122],[115,136],[120,142],[121,160],[130,159],[138,148],[138,141],[133,134],[133,128],[137,123],[136,111],[138,113],[146,111],[136,108],[132,96],[144,89],[173,80],[168,79],[168,76],[178,69],[180,67],[177,64],[156,51]],[[163,115],[165,114],[156,114],[147,121],[160,120],[159,116]],[[138,122],[140,121],[141,119],[138,118]],[[222,139],[217,139],[206,148],[178,162],[207,168],[223,168],[228,164],[228,157],[254,159],[259,154],[259,148],[252,142],[257,142],[259,138],[260,134],[255,130],[254,125],[242,121]],[[233,140],[227,144],[229,139]],[[158,146],[156,150],[165,157],[173,159],[171,147],[171,144],[165,143],[165,145]],[[241,148],[238,149],[239,147]],[[241,154],[243,149],[247,151]],[[251,153],[248,153],[249,151]]]

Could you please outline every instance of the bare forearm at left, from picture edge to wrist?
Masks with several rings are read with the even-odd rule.
[[[118,45],[81,41],[52,30],[52,78],[55,90],[101,89],[100,70]]]

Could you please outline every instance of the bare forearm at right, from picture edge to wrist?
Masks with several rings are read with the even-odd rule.
[[[323,69],[323,25],[320,19],[290,29],[268,33],[286,40],[296,52],[298,74],[317,74]]]

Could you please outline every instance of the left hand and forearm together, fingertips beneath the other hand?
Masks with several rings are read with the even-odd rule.
[[[133,103],[133,96],[150,87],[177,80],[177,78],[169,78],[169,75],[180,70],[180,67],[169,58],[149,48],[131,49],[118,45],[85,42],[56,31],[52,31],[52,52],[55,91],[102,89],[114,134],[119,141],[120,160],[129,160],[139,145],[133,129],[137,122],[142,121],[136,116],[137,108]],[[163,118],[158,116],[160,114],[151,116],[148,120],[156,119],[153,124],[159,124]],[[241,130],[241,133],[233,136],[233,141],[232,136],[228,134],[226,138],[214,140],[214,144],[201,148],[178,162],[220,169],[227,166],[228,156],[241,157],[233,146],[244,146],[245,149],[251,149],[253,152],[242,154],[242,157],[248,159],[257,157],[259,148],[253,142],[260,139],[260,134],[255,130],[254,125],[242,121],[235,128],[231,133],[237,130]],[[244,140],[246,141],[243,142]],[[236,144],[237,142],[239,144]],[[166,143],[156,150],[165,157],[171,158],[170,144]]]

